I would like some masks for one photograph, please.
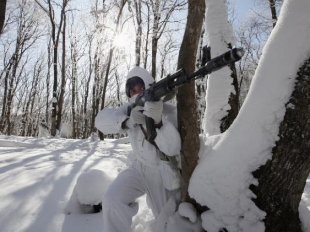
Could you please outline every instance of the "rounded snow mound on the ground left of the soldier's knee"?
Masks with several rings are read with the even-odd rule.
[[[80,174],[76,185],[78,201],[90,205],[101,203],[111,181],[107,174],[98,169]]]

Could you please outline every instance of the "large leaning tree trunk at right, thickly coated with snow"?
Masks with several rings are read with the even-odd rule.
[[[310,172],[309,11],[309,0],[284,2],[233,125],[202,141],[189,193],[210,208],[202,214],[208,232],[301,231],[298,205]]]

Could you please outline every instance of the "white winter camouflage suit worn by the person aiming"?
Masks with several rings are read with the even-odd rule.
[[[139,76],[145,87],[154,82],[144,69],[135,67],[127,79]],[[122,129],[130,103],[115,109],[104,109],[95,119],[95,127],[105,134],[127,132],[133,154],[128,156],[128,168],[120,173],[109,186],[103,198],[104,232],[130,232],[132,217],[138,213],[137,198],[147,194],[147,203],[157,217],[167,202],[170,190],[180,187],[178,171],[169,162],[159,159],[158,150],[145,140],[140,127]],[[164,103],[163,126],[156,129],[155,143],[167,156],[180,155],[181,138],[177,131],[176,107]]]

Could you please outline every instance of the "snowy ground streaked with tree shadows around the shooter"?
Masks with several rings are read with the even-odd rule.
[[[83,213],[74,188],[78,176],[93,169],[105,173],[102,184],[108,185],[124,170],[126,156],[132,152],[124,142],[1,135],[0,231],[102,232],[102,213]],[[139,204],[133,232],[144,232],[153,219],[145,197]],[[303,221],[310,221],[307,206],[310,179],[300,207]],[[310,232],[309,228],[305,231]]]

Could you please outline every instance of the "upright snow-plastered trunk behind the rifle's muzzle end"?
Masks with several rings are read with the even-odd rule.
[[[214,58],[230,50],[235,39],[227,19],[225,0],[205,0],[205,4],[206,41],[211,48],[211,58]],[[211,73],[207,86],[202,128],[207,136],[211,136],[227,130],[238,112],[234,65]]]

